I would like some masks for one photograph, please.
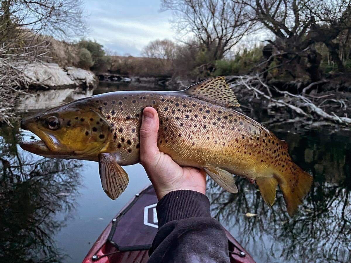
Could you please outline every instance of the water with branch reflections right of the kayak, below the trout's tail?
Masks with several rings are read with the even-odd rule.
[[[293,159],[314,177],[311,191],[293,218],[286,213],[280,189],[269,208],[257,186],[241,177],[237,177],[238,194],[227,193],[208,180],[212,215],[258,262],[351,262],[349,138],[285,136]],[[257,216],[245,216],[248,212]]]

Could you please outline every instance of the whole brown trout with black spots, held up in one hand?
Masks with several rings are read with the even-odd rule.
[[[143,109],[159,116],[157,146],[180,166],[203,169],[217,184],[237,193],[235,176],[256,182],[269,207],[276,188],[293,215],[312,184],[312,176],[291,159],[286,142],[235,110],[240,104],[224,76],[181,91],[120,91],[66,103],[21,121],[39,141],[23,141],[31,153],[99,162],[101,185],[116,199],[129,177],[121,166],[140,161]]]

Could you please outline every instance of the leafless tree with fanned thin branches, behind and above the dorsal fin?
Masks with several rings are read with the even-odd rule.
[[[173,25],[183,42],[194,35],[213,60],[223,58],[253,29],[249,8],[226,0],[162,0],[161,10],[173,11]],[[250,10],[249,10],[250,11]]]

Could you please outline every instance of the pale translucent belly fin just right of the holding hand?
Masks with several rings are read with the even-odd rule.
[[[226,170],[220,168],[206,168],[204,167],[206,173],[218,183],[226,191],[236,194],[238,193],[238,188],[235,185],[234,176]]]

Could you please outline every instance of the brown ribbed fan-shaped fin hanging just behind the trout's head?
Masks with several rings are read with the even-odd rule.
[[[128,174],[117,163],[113,154],[99,154],[99,173],[102,188],[108,197],[115,200],[124,192],[129,181]]]

